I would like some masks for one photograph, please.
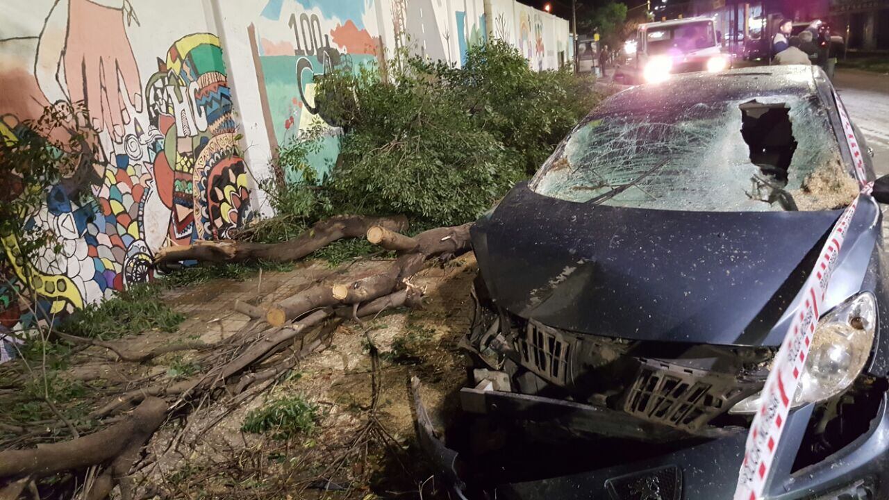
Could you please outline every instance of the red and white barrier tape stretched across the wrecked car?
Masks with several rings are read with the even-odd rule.
[[[861,182],[861,194],[869,195],[873,183],[865,181],[864,159],[855,139],[852,123],[836,91],[834,99],[837,101],[845,141],[852,153],[855,172]],[[765,379],[757,413],[753,416],[753,423],[750,424],[734,500],[759,500],[765,494],[765,485],[784,431],[784,423],[787,422],[790,407],[799,387],[799,376],[803,373],[818,319],[824,311],[824,294],[827,291],[830,275],[837,265],[846,230],[860,200],[861,195],[856,197],[839,216],[827,242],[821,248],[813,272],[803,284],[802,308],[791,320],[781,348],[775,355],[772,370]]]

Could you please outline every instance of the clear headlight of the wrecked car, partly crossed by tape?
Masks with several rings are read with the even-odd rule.
[[[791,407],[817,403],[845,391],[868,361],[877,327],[877,300],[864,292],[818,321]],[[753,414],[760,394],[741,400],[729,413]]]

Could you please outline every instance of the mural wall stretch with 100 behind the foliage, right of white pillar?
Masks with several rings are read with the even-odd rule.
[[[473,44],[495,36],[515,45],[536,70],[571,60],[568,23],[515,0],[262,0],[252,22],[259,93],[274,134],[285,145],[309,127],[326,126],[312,165],[327,171],[339,150],[338,131],[318,117],[315,78],[332,68],[357,69],[406,50],[455,66]],[[249,17],[249,14],[247,14]],[[294,173],[284,173],[292,178]]]

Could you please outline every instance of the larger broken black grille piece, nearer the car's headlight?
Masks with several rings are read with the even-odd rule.
[[[624,411],[694,431],[728,410],[743,392],[733,376],[643,364],[627,393]]]

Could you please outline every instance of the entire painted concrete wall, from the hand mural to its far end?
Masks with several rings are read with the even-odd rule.
[[[515,44],[533,69],[556,69],[560,53],[571,60],[567,21],[513,0],[4,2],[0,136],[16,141],[21,122],[45,107],[84,101],[85,126],[101,144],[81,186],[94,202],[79,205],[61,183],[32,218],[62,247],[32,270],[44,307],[98,302],[151,278],[158,248],[226,238],[271,214],[258,182],[274,174],[277,146],[319,123],[318,75],[376,64],[402,47],[460,66],[489,33]],[[319,125],[324,148],[313,165],[323,171],[339,131]],[[14,253],[16,241],[2,243]],[[0,272],[16,286],[27,274]],[[23,314],[15,297],[0,286],[5,327]]]

